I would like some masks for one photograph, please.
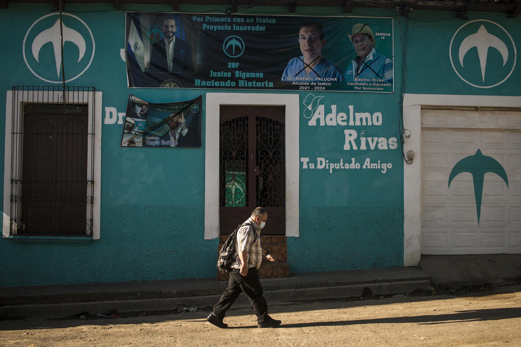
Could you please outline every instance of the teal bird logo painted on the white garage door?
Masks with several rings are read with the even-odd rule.
[[[481,198],[483,195],[483,179],[485,178],[485,173],[493,172],[501,177],[503,181],[505,181],[507,188],[508,178],[506,177],[505,169],[503,169],[503,166],[499,164],[498,160],[495,160],[494,158],[487,155],[483,155],[479,149],[476,151],[476,154],[469,155],[454,165],[449,176],[449,188],[451,187],[451,182],[454,177],[460,175],[462,172],[469,172],[474,180],[474,197],[476,199],[476,212],[478,214],[479,225],[479,217],[481,214]]]

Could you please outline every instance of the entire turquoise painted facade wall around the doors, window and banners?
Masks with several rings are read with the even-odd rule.
[[[9,4],[0,10],[2,39],[0,66],[10,67],[0,80],[0,105],[13,85],[48,85],[36,78],[23,63],[22,40],[51,5]],[[224,10],[226,7],[182,7],[184,11]],[[168,11],[170,6],[132,5],[128,10]],[[262,8],[266,13],[284,13],[286,8]],[[88,12],[96,10],[97,12]],[[258,11],[257,8],[253,10]],[[253,11],[250,9],[250,11]],[[336,8],[299,8],[308,14],[340,13]],[[125,111],[129,93],[151,102],[189,100],[212,90],[126,88],[125,63],[119,49],[125,45],[125,16],[109,5],[71,5],[67,12],[79,16],[91,28],[96,54],[91,67],[70,85],[95,86],[103,92],[103,109]],[[244,11],[245,12],[245,11]],[[355,9],[368,16],[396,16],[392,10]],[[421,13],[415,13],[415,16]],[[425,13],[421,20],[437,20],[449,13]],[[490,14],[471,15],[492,18]],[[494,15],[519,38],[519,19]],[[458,78],[450,65],[448,44],[464,21],[456,19],[423,23],[408,22],[406,54],[409,93],[521,95],[519,67],[505,83],[491,89],[474,88]],[[402,31],[406,21],[402,18]],[[515,30],[517,29],[517,31]],[[352,158],[363,165],[391,163],[386,173],[377,169],[300,170],[300,237],[288,238],[288,262],[292,273],[392,267],[403,265],[403,159],[400,148],[388,150],[343,149],[345,129],[366,131],[366,137],[399,138],[401,43],[398,20],[394,20],[394,94],[325,92],[326,114],[331,105],[338,111],[382,113],[380,126],[309,126],[300,110],[300,156],[316,163]],[[516,36],[517,35],[517,36]],[[519,50],[519,46],[517,46]],[[492,61],[492,60],[491,60]],[[469,63],[474,64],[474,63]],[[492,68],[491,68],[492,69]],[[230,92],[222,90],[224,92]],[[212,91],[213,92],[213,91]],[[242,91],[232,91],[241,93]],[[260,91],[248,91],[260,92]],[[287,93],[287,92],[286,92]],[[297,92],[295,92],[297,93]],[[297,93],[301,101],[307,92]],[[318,95],[318,93],[316,93]],[[240,97],[240,96],[238,96]],[[204,105],[204,103],[203,103]],[[301,106],[302,107],[302,106]],[[204,134],[203,107],[203,134]],[[0,119],[3,120],[3,114]],[[96,121],[103,121],[103,118]],[[406,125],[405,125],[406,127]],[[17,243],[0,240],[0,254],[8,264],[0,275],[2,286],[38,284],[162,280],[214,277],[217,240],[204,240],[204,144],[203,148],[153,150],[120,148],[122,125],[102,126],[101,239],[88,244]],[[4,143],[0,121],[0,143]],[[165,153],[167,153],[165,157]],[[4,162],[0,151],[0,163]],[[179,163],[182,163],[181,165]],[[2,174],[0,174],[2,175]],[[3,187],[0,188],[3,191]]]

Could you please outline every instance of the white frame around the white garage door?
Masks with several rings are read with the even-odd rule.
[[[417,266],[421,233],[421,106],[521,107],[521,96],[405,94],[404,127],[411,130],[404,152],[414,151],[414,162],[403,168],[403,266]]]

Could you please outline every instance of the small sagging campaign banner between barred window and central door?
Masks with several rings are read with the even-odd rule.
[[[129,95],[121,147],[201,148],[203,96],[154,104]]]

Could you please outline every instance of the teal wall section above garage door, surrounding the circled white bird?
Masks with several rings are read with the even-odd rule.
[[[462,95],[505,95],[520,96],[521,86],[521,61],[519,54],[521,48],[521,18],[507,19],[505,14],[492,13],[470,13],[466,20],[440,20],[442,18],[453,17],[452,13],[425,13],[417,16],[427,22],[410,21],[408,24],[408,36],[405,43],[407,50],[407,93],[413,94],[462,94]],[[473,22],[473,20],[486,20],[502,26],[510,35],[516,45],[517,57],[512,75],[503,83],[492,88],[476,88],[456,75],[451,59],[449,58],[449,47],[455,32],[464,24],[460,35],[454,38],[452,54],[456,56],[453,61],[456,67],[458,61],[458,45],[461,39],[467,35],[477,32],[482,24],[486,24],[491,34],[497,35],[504,41],[508,48],[508,61],[503,66],[503,60],[498,49],[489,48],[487,65],[485,70],[485,84],[490,85],[500,82],[512,70],[514,61],[514,51],[508,36],[500,28],[490,22]],[[491,25],[492,24],[492,25]],[[404,26],[405,27],[405,26]],[[404,28],[405,34],[405,28]],[[459,39],[459,40],[458,40]],[[398,45],[398,47],[396,46]],[[400,43],[395,41],[396,48],[400,49]],[[470,48],[463,60],[465,69],[460,69],[462,76],[474,84],[481,83],[481,71],[477,48]]]

